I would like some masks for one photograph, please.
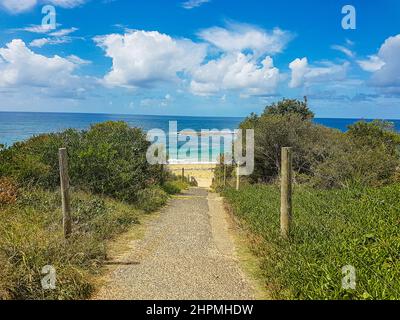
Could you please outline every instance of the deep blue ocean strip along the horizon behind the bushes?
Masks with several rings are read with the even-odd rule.
[[[34,135],[58,132],[68,128],[83,130],[92,124],[104,121],[126,121],[130,126],[140,127],[145,131],[162,129],[168,132],[170,121],[177,121],[178,131],[188,129],[200,131],[201,129],[234,130],[242,120],[243,118],[230,117],[0,112],[0,144],[10,146]],[[359,120],[317,118],[314,121],[327,127],[346,131],[349,125]],[[396,130],[400,131],[400,120],[389,121],[392,121]]]

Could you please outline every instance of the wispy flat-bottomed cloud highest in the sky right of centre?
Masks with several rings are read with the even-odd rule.
[[[230,23],[227,28],[205,29],[199,37],[225,52],[252,50],[262,55],[282,52],[293,35],[279,28],[269,32],[248,24]]]

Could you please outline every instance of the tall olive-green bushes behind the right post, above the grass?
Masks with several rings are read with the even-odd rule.
[[[296,180],[302,183],[336,188],[396,181],[400,135],[389,123],[361,121],[342,133],[309,121],[307,111],[303,102],[283,100],[242,122],[240,128],[255,130],[253,182],[279,177],[282,147],[292,147]]]

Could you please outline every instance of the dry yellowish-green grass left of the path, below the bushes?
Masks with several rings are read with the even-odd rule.
[[[86,299],[108,259],[107,243],[164,205],[162,190],[142,194],[137,206],[108,197],[72,193],[73,236],[63,238],[59,192],[20,190],[0,205],[0,300]],[[56,289],[44,290],[41,271],[56,270]]]

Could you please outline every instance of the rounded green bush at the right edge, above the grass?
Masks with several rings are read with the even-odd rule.
[[[400,135],[387,122],[360,121],[329,145],[329,155],[312,167],[313,185],[344,187],[352,183],[381,186],[396,181]]]

